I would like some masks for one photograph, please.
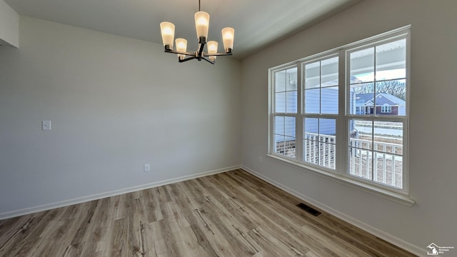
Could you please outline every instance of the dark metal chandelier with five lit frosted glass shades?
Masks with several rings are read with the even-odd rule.
[[[160,30],[162,34],[162,41],[164,41],[165,52],[178,54],[179,62],[189,61],[196,59],[198,61],[205,60],[211,64],[216,61],[216,56],[229,56],[231,49],[233,49],[233,36],[235,30],[233,28],[222,29],[222,40],[224,41],[224,53],[218,53],[218,43],[216,41],[206,42],[208,38],[209,28],[209,14],[200,10],[195,13],[195,27],[197,31],[197,39],[199,39],[199,49],[194,53],[187,52],[187,40],[176,39],[176,51],[173,50],[174,43],[174,24],[168,21],[161,22]],[[204,52],[206,45],[207,52]],[[206,58],[207,57],[207,58]]]

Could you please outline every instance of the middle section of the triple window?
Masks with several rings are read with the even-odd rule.
[[[336,168],[338,56],[303,63],[303,161]]]

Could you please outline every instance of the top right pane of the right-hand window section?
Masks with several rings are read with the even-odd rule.
[[[406,78],[406,39],[376,46],[376,81]]]

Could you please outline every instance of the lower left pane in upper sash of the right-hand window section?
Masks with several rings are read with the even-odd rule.
[[[351,85],[349,93],[350,114],[374,114],[374,84]]]

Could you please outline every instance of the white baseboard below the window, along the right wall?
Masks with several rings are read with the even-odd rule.
[[[241,166],[241,168],[243,170],[247,171],[248,173],[251,173],[253,176],[261,178],[263,181],[271,183],[273,186],[281,188],[283,191],[291,193],[293,196],[296,196],[298,198],[301,198],[303,201],[311,203],[313,206],[320,208],[322,211],[326,211],[327,213],[330,213],[331,215],[336,216],[337,218],[341,218],[343,221],[346,221],[347,223],[350,223],[353,226],[361,228],[363,231],[371,233],[372,235],[377,236],[378,238],[381,238],[385,241],[388,241],[389,243],[392,243],[395,246],[398,246],[406,251],[416,254],[417,256],[424,256],[424,254],[426,253],[425,248],[421,248],[416,245],[413,245],[412,243],[408,243],[401,238],[397,238],[396,236],[392,236],[391,234],[381,231],[378,228],[375,228],[366,223],[358,221],[357,219],[352,218],[351,216],[348,216],[345,213],[342,213],[341,211],[331,208],[330,206],[326,206],[325,204],[323,204],[319,201],[315,201],[312,198],[309,198],[308,196],[303,195],[303,193],[295,191],[292,188],[289,188],[288,186],[283,185],[282,183],[278,183],[278,182],[274,181],[273,179],[268,178],[267,176],[264,176],[261,173],[253,171],[253,169],[251,169],[251,168],[248,168],[246,166]]]

